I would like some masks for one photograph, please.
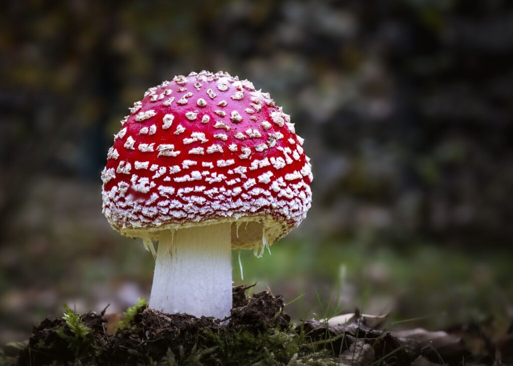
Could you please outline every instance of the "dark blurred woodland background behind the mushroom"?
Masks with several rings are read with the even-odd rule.
[[[237,284],[296,320],[513,317],[513,4],[12,1],[0,14],[0,342],[148,298],[153,258],[101,213],[112,135],[176,74],[250,79],[312,159],[307,219]]]

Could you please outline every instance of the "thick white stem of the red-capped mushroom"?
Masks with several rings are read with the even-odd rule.
[[[153,274],[151,309],[223,319],[230,315],[231,288],[230,223],[162,234]]]

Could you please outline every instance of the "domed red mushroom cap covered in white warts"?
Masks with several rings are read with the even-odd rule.
[[[233,248],[287,234],[311,204],[311,166],[290,116],[228,73],[190,73],[130,108],[102,172],[103,212],[128,236],[250,221]],[[263,227],[262,227],[263,226]]]

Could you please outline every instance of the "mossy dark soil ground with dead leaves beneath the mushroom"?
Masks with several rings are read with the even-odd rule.
[[[501,364],[497,358],[501,352],[491,343],[487,353],[472,355],[464,337],[457,334],[461,329],[455,334],[419,329],[392,332],[380,329],[383,324],[373,324],[358,311],[344,324],[308,320],[293,327],[283,312],[281,296],[264,291],[247,297],[245,291],[249,288],[233,288],[231,316],[223,320],[163,314],[142,306],[128,326],[117,332],[107,332],[115,328],[107,319],[119,321],[119,316],[105,315],[105,310],[82,314],[79,322],[88,330],[80,333],[65,319],[45,319],[33,328],[33,336],[16,362],[292,366],[456,365],[465,360],[465,364]]]

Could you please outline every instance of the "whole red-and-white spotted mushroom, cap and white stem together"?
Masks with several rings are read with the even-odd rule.
[[[303,139],[268,93],[221,71],[150,88],[121,124],[103,212],[147,248],[159,241],[149,307],[229,316],[231,250],[261,255],[310,208]]]

